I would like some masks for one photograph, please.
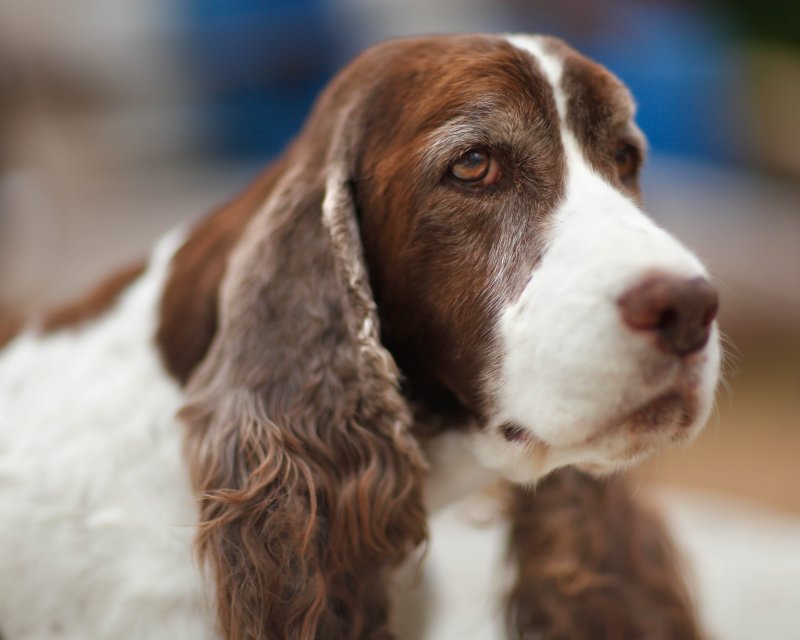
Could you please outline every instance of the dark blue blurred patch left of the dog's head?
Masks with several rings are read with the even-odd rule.
[[[324,0],[186,0],[179,18],[214,154],[268,159],[340,64]]]

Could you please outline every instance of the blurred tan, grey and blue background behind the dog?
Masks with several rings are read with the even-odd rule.
[[[800,522],[798,2],[0,0],[0,315],[234,194],[370,43],[455,31],[558,35],[632,88],[647,208],[718,279],[729,352],[710,427],[637,478]]]

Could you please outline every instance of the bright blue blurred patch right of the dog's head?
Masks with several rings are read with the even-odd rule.
[[[653,150],[740,158],[746,107],[724,34],[686,5],[623,4],[614,33],[597,33],[582,49],[631,88]]]

